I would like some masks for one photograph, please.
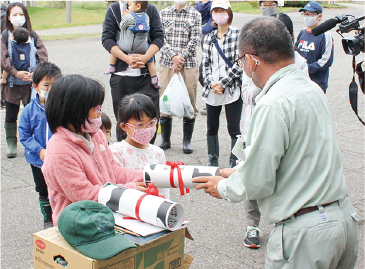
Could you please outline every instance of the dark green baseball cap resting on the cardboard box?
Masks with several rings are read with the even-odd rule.
[[[85,200],[68,205],[58,218],[58,230],[67,243],[82,254],[106,260],[136,245],[114,231],[111,209]]]

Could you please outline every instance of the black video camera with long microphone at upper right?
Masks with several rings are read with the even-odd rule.
[[[314,27],[312,29],[312,34],[314,36],[318,36],[331,30],[332,28],[336,27],[338,23],[340,23],[336,32],[343,38],[342,39],[342,46],[343,50],[346,54],[349,55],[358,55],[360,52],[364,51],[364,34],[365,34],[365,27],[360,26],[360,21],[365,19],[365,15],[360,17],[355,17],[351,14],[340,14],[335,18],[329,19],[324,23]],[[351,38],[344,38],[342,34],[349,33],[351,31],[358,31],[358,33]]]

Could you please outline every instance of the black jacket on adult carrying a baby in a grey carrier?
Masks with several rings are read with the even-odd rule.
[[[164,35],[160,20],[160,15],[157,11],[157,8],[154,5],[148,4],[146,13],[150,18],[150,44],[155,44],[160,49],[164,43]],[[103,47],[109,51],[112,47],[118,46],[117,32],[120,31],[119,24],[121,21],[121,13],[120,13],[120,5],[119,2],[112,4],[105,14],[105,20],[103,23],[103,34],[101,36],[101,42]],[[122,42],[122,41],[120,41]],[[124,71],[128,67],[128,64],[120,59],[117,61],[116,72]],[[145,72],[144,69],[141,70],[141,73]]]

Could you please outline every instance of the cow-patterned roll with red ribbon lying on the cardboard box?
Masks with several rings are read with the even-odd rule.
[[[112,183],[106,183],[100,189],[98,202],[114,212],[171,231],[179,229],[184,222],[180,204]]]

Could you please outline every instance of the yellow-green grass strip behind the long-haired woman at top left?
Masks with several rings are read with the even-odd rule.
[[[32,21],[32,28],[34,30],[45,30],[101,24],[104,21],[106,9],[72,8],[71,24],[66,24],[66,9],[28,7],[28,12]]]

